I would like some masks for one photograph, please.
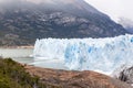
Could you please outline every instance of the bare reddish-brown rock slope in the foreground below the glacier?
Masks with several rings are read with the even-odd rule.
[[[24,65],[32,76],[39,76],[42,82],[60,86],[61,88],[133,88],[130,85],[91,70],[75,72],[48,69]]]

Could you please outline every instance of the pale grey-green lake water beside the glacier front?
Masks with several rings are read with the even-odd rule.
[[[33,58],[33,48],[0,48],[0,56],[11,57],[22,64],[33,65],[43,68],[68,69],[63,61],[49,58]]]

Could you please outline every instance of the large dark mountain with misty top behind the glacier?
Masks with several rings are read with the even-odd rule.
[[[125,33],[122,25],[83,0],[0,3],[0,45],[30,45],[42,37],[106,37]]]

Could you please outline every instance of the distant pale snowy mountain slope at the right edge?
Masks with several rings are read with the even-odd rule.
[[[119,23],[124,26],[124,29],[133,34],[133,21],[127,18],[120,18]]]

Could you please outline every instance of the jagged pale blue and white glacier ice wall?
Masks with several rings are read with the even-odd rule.
[[[34,44],[34,59],[62,59],[72,70],[112,73],[133,65],[133,35],[105,38],[41,38]]]

